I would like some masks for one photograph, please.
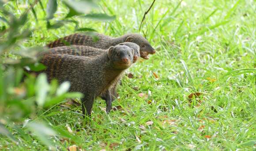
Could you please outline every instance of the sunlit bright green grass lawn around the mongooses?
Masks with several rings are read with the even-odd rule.
[[[99,4],[102,12],[117,19],[79,19],[79,26],[116,37],[138,32],[151,1],[102,0]],[[43,17],[37,7],[38,18]],[[53,107],[33,120],[45,120],[66,133],[66,125],[72,129],[73,141],[50,138],[60,151],[71,145],[95,151],[255,150],[255,10],[254,0],[158,0],[143,26],[157,53],[127,71],[134,78],[123,77],[120,99],[113,102],[121,109],[107,115],[105,102],[97,99],[87,125],[82,125],[80,107]],[[59,7],[57,15],[61,18],[66,11]],[[47,30],[45,24],[34,22],[32,13],[30,20],[36,30],[23,47],[44,46],[75,32],[71,24]],[[136,86],[138,90],[133,89]],[[202,94],[189,99],[195,92]],[[148,98],[140,98],[139,93],[147,93]],[[29,133],[17,134],[22,125],[16,126],[11,133],[19,145],[1,136],[1,150],[49,149]]]

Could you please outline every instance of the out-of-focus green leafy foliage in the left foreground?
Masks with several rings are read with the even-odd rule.
[[[79,28],[75,17],[93,19],[97,21],[111,21],[115,16],[96,14],[98,5],[93,0],[48,0],[46,7],[42,0],[23,0],[28,4],[25,11],[17,12],[17,1],[0,0],[0,135],[7,136],[15,143],[15,139],[8,129],[15,129],[18,135],[30,140],[30,135],[36,135],[42,143],[52,148],[49,136],[64,136],[67,133],[60,129],[52,129],[43,124],[38,118],[38,112],[51,109],[68,98],[81,98],[81,93],[68,92],[69,82],[58,86],[57,81],[48,83],[45,74],[36,77],[24,73],[24,68],[39,71],[45,68],[38,63],[36,55],[43,51],[43,47],[20,47],[26,38],[32,37],[33,23],[44,24],[47,29],[57,29],[66,24],[72,24],[77,31],[95,32],[91,28]],[[55,19],[58,5],[67,7],[67,15],[59,20]],[[44,18],[38,18],[36,6],[44,12]],[[28,22],[28,16],[33,15],[34,22]],[[17,51],[13,51],[17,50]],[[24,76],[26,74],[26,76]],[[25,78],[24,78],[25,77]],[[23,124],[23,126],[21,126]],[[29,134],[32,132],[32,134]],[[77,139],[74,139],[77,141]]]

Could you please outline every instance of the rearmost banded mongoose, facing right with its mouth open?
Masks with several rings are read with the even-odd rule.
[[[94,41],[93,37],[91,37],[90,35],[85,35],[83,33],[75,33],[67,37],[53,41],[47,46],[49,48],[54,48],[65,45],[83,45],[91,46],[94,48],[107,49],[110,46],[115,46],[123,42],[132,42],[139,45],[140,56],[143,59],[149,59],[148,54],[155,53],[154,48],[150,45],[147,39],[145,39],[137,33],[129,33],[117,38],[109,37],[99,33],[96,33],[96,36],[98,37],[98,41]]]

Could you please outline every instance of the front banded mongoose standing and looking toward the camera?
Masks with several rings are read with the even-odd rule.
[[[63,48],[79,52],[81,47]],[[47,68],[40,72],[45,72],[49,81],[53,78],[60,83],[70,81],[69,91],[82,92],[82,111],[85,117],[85,110],[88,116],[91,114],[94,98],[106,91],[110,93],[109,89],[118,81],[124,70],[132,65],[133,54],[134,50],[125,45],[111,46],[108,51],[94,57],[60,54],[56,53],[55,49],[50,49],[49,52],[41,53],[41,63]],[[107,108],[111,109],[111,101],[109,103]]]

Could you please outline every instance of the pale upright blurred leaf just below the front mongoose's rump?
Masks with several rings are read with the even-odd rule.
[[[38,106],[42,107],[45,103],[47,93],[49,91],[49,84],[45,73],[39,74],[36,81],[36,102]]]

